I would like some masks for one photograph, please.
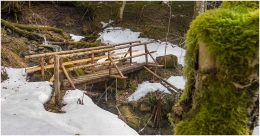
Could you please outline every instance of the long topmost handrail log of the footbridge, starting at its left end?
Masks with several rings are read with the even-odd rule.
[[[69,51],[60,51],[60,52],[51,52],[51,53],[43,53],[43,54],[35,54],[35,55],[29,55],[25,56],[25,59],[29,58],[38,58],[38,57],[45,57],[45,56],[52,56],[52,55],[62,55],[62,54],[73,54],[78,52],[85,52],[85,51],[91,51],[91,50],[100,50],[105,48],[111,48],[123,44],[129,44],[129,43],[137,43],[140,41],[132,41],[132,42],[125,42],[125,43],[118,43],[118,44],[111,44],[111,45],[105,45],[105,46],[99,46],[99,47],[91,47],[91,48],[84,48],[84,49],[76,49],[76,50],[69,50]],[[140,44],[141,45],[141,44]],[[91,53],[89,53],[91,54]]]

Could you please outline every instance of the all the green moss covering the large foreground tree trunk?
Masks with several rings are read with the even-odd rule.
[[[180,102],[192,97],[193,103],[174,128],[175,134],[249,134],[246,106],[259,87],[239,89],[232,82],[248,83],[250,75],[259,69],[258,65],[250,65],[259,51],[259,9],[248,8],[254,3],[224,2],[222,8],[208,10],[192,21],[185,43],[186,85]],[[216,60],[216,72],[197,71],[199,41],[205,42],[208,53]]]

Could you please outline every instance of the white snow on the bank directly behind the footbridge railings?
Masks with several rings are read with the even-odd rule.
[[[98,40],[105,44],[116,44],[116,43],[123,43],[123,42],[130,42],[130,41],[137,41],[140,40],[141,42],[149,42],[153,39],[149,38],[140,38],[140,32],[133,32],[130,29],[122,28],[122,27],[108,27],[104,29],[103,32],[99,33],[100,37]],[[184,65],[184,55],[185,50],[177,45],[157,41],[155,43],[147,44],[147,48],[149,51],[157,51],[153,53],[153,57],[156,58],[157,56],[164,56],[165,55],[165,47],[166,47],[166,55],[173,54],[177,56],[178,63]],[[126,52],[128,48],[116,50],[114,53]],[[133,50],[138,50],[138,52],[134,52],[133,55],[144,53],[144,46],[136,46],[133,47]],[[121,55],[124,56],[124,55]],[[105,61],[99,60],[98,62]],[[145,62],[145,56],[140,56],[133,58],[133,62],[143,63]],[[153,63],[153,59],[148,57],[148,62]]]

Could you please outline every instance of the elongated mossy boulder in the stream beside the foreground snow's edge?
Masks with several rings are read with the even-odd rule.
[[[129,106],[122,106],[119,110],[122,114],[123,120],[125,120],[130,127],[137,129],[139,126],[139,120],[132,114],[131,108]]]

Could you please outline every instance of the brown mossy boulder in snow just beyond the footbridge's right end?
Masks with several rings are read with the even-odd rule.
[[[165,64],[165,59],[166,59],[166,64]],[[173,54],[169,54],[166,56],[158,56],[156,57],[156,61],[160,65],[164,65],[166,68],[175,68],[178,66],[178,58]]]

